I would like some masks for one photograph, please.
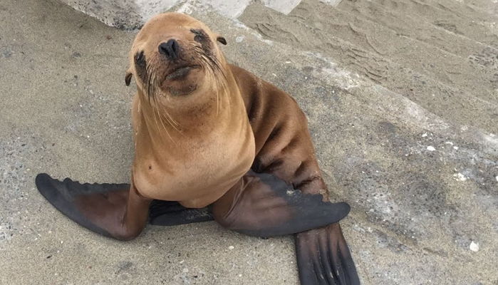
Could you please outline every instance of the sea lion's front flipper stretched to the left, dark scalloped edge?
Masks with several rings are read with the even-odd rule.
[[[38,191],[53,207],[81,226],[106,237],[133,239],[147,222],[150,199],[128,184],[81,184],[42,173]]]

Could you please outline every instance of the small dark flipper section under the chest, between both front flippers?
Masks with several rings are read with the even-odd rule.
[[[158,226],[175,226],[212,221],[209,209],[190,209],[178,202],[153,200],[149,208],[149,223]]]

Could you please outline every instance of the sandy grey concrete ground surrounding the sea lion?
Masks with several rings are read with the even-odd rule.
[[[498,284],[495,2],[173,9],[304,109],[363,284],[477,285]],[[56,212],[38,172],[128,181],[136,31],[53,0],[3,0],[0,20],[0,284],[298,284],[291,237],[206,222],[117,242]]]

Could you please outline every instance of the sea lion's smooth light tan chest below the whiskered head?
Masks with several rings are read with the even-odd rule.
[[[247,116],[208,132],[166,133],[133,108],[133,182],[140,195],[199,208],[222,197],[251,167],[254,135]]]

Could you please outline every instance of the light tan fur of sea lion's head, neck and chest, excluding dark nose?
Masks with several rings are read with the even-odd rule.
[[[180,62],[201,68],[179,81],[159,83],[153,78],[151,96],[133,58],[144,52],[157,78],[165,78],[175,66],[162,60],[157,46],[169,38],[182,47]],[[133,100],[133,176],[144,197],[205,207],[224,195],[254,160],[254,136],[244,102],[232,73],[225,68],[217,38],[189,16],[161,14],[142,28],[133,43],[129,73],[135,75],[138,87]],[[199,51],[209,61],[201,61]],[[171,88],[193,85],[197,87],[191,93],[171,92]]]

